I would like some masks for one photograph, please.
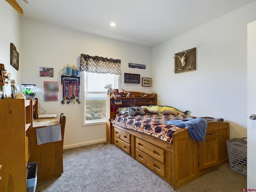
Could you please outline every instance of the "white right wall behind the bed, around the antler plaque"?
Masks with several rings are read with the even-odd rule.
[[[256,2],[152,48],[158,104],[224,118],[230,138],[247,136],[247,23]],[[196,70],[174,74],[174,54],[196,47]]]

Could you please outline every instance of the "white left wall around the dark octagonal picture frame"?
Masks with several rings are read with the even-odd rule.
[[[10,65],[10,43],[13,43],[20,54],[20,67],[22,67],[22,50],[20,42],[20,15],[8,2],[0,1],[0,63],[4,64],[10,79],[20,83],[20,70],[17,71]],[[10,96],[10,83],[5,86],[6,95]]]

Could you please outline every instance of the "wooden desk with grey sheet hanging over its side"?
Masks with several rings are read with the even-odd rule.
[[[30,162],[37,162],[38,181],[59,177],[62,174],[61,141],[37,145],[36,129],[45,126],[58,125],[58,118],[34,119],[31,127],[31,156]]]

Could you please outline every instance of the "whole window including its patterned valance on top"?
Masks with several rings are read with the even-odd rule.
[[[121,60],[81,54],[80,71],[85,71],[82,124],[106,123],[107,84],[118,88]]]

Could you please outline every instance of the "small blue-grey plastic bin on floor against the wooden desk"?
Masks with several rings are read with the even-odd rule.
[[[27,175],[27,192],[36,192],[37,162],[28,163]]]

